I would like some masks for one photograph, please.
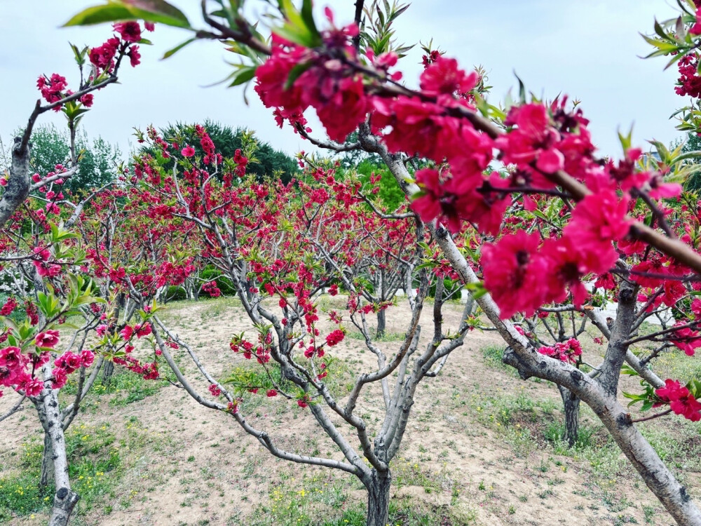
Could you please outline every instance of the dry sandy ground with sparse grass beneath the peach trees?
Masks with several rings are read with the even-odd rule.
[[[334,308],[333,304],[327,307]],[[447,326],[457,326],[461,308],[446,306]],[[432,332],[431,310],[430,306],[424,310],[421,322],[422,341],[426,342]],[[390,309],[388,333],[404,332],[408,313],[404,304]],[[193,344],[215,376],[226,375],[232,367],[251,365],[229,350],[233,332],[249,330],[251,334],[245,312],[231,306],[231,302],[173,304],[167,319],[180,337]],[[522,382],[509,370],[488,365],[482,349],[495,344],[503,345],[496,333],[471,332],[442,374],[419,386],[402,449],[393,463],[393,499],[420,508],[445,508],[451,516],[451,522],[445,524],[454,525],[671,524],[669,515],[627,462],[618,463],[622,467],[611,473],[608,486],[602,487],[600,477],[596,484],[592,482],[592,465],[586,459],[556,454],[538,439],[526,441],[524,447],[514,441],[513,437],[522,432],[538,436],[543,422],[562,417],[559,411],[543,414],[543,422],[516,415],[510,435],[500,429],[499,415],[487,415],[489,410],[484,412],[483,402],[486,407],[491,398],[523,393],[541,402],[552,400],[554,407],[559,407],[559,394],[545,382]],[[400,343],[379,345],[390,354]],[[349,364],[349,380],[360,370],[369,371],[376,365],[359,339],[347,337],[333,354]],[[193,365],[184,358],[182,363],[184,371],[196,378]],[[636,382],[624,382],[624,389],[634,390]],[[206,382],[196,379],[194,383],[205,391]],[[383,411],[378,393],[375,388],[365,391],[356,410],[371,427],[381,425]],[[0,399],[0,411],[11,398]],[[74,426],[109,422],[111,431],[119,437],[128,432],[128,425],[130,431],[140,433],[142,446],[122,452],[126,471],[115,488],[117,497],[105,496],[102,505],[76,518],[76,524],[263,524],[261,506],[274,505],[275,492],[279,494],[285,487],[304,487],[303,480],[307,484],[322,480],[329,487],[346,487],[347,503],[343,506],[356,505],[363,499],[352,476],[273,458],[229,415],[207,410],[182,389],[165,386],[153,396],[124,407],[112,407],[108,398],[95,399]],[[248,421],[269,431],[280,447],[341,458],[308,410],[301,410],[294,402],[258,395],[245,403],[243,410]],[[583,420],[594,424],[591,417]],[[334,421],[353,440],[348,426]],[[11,452],[41,434],[31,407],[0,426],[1,477],[12,473]],[[600,434],[605,441],[605,431]],[[508,440],[509,436],[512,439]],[[699,473],[690,476],[692,480],[700,478]],[[697,499],[700,489],[701,484],[691,485]],[[319,504],[322,512],[326,506],[323,500],[320,498]],[[109,514],[105,511],[108,506]],[[326,516],[324,513],[320,515]],[[34,519],[18,518],[11,524],[45,521],[46,515],[36,515]]]

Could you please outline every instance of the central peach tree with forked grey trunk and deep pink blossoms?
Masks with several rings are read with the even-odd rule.
[[[150,309],[149,332],[154,356],[158,357],[154,371],[157,374],[157,363],[165,362],[195,400],[231,414],[276,457],[357,476],[367,488],[370,523],[384,524],[390,462],[404,436],[416,388],[423,379],[440,372],[470,330],[467,316],[456,328],[447,330],[442,316],[442,276],[418,264],[423,261],[423,251],[432,248],[435,241],[426,236],[423,222],[413,214],[377,217],[364,189],[353,181],[336,180],[333,168],[313,166],[310,182],[293,181],[287,186],[279,180],[259,182],[245,175],[245,152],[223,159],[205,128],[196,126],[194,133],[203,156],[195,156],[191,144],[182,142],[182,137],[166,140],[153,129],[143,135],[149,142],[148,151],[155,153],[137,156],[125,173],[125,210],[131,217],[151,218],[149,238],[161,238],[174,228],[199,235],[200,243],[193,247],[236,288],[254,329],[252,335],[233,335],[229,351],[259,367],[238,367],[228,377],[214,375],[193,346],[147,304],[153,296],[156,267],[152,266],[149,274],[137,258],[127,258],[123,267],[111,274],[139,309]],[[393,231],[389,238],[388,229]],[[130,238],[133,231],[127,227],[120,235]],[[179,247],[187,251],[182,243]],[[400,275],[411,318],[403,341],[395,346],[377,342],[366,319],[370,313],[390,307],[390,302],[377,300],[374,292],[367,290],[366,261],[377,257],[396,259],[404,268]],[[432,282],[436,284],[433,335],[421,350],[419,318]],[[339,286],[347,295],[346,309],[330,311],[329,321],[335,328],[324,330],[318,295],[322,290],[338,295]],[[329,383],[327,377],[333,378],[337,363],[334,347],[346,337],[348,324],[360,332],[376,365],[345,391]],[[133,330],[137,329],[127,326],[116,331],[114,323],[106,324],[100,344],[123,349],[121,355],[112,355],[113,361],[130,363],[134,359],[133,349],[125,344]],[[198,375],[185,374],[175,353],[191,360]],[[203,392],[203,380],[208,392]],[[356,410],[362,404],[361,394],[373,385],[378,386],[380,396],[380,407],[373,407],[373,411],[384,412],[374,440],[370,424]],[[251,396],[275,398],[276,403],[292,403],[297,410],[311,412],[342,454],[341,459],[283,450],[274,436],[260,429],[264,424],[251,422],[244,414],[242,402]],[[353,439],[341,431],[345,425],[353,429]]]

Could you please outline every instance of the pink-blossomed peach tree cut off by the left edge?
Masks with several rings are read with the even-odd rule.
[[[147,27],[153,29],[150,22]],[[9,389],[17,398],[0,421],[22,410],[26,401],[36,408],[44,430],[40,485],[46,489],[53,482],[55,487],[52,525],[67,524],[79,499],[69,480],[64,431],[104,360],[95,361],[100,349],[86,344],[100,323],[104,298],[95,282],[79,272],[86,252],[73,231],[83,209],[104,188],[69,196],[62,187],[79,168],[76,128],[93,105],[93,92],[117,81],[123,60],[138,65],[138,44],[148,43],[137,22],[116,23],[113,29],[102,46],[72,46],[80,79],[75,91],[60,74],[39,76],[36,87],[46,104],[36,102],[25,130],[15,138],[11,166],[0,178],[0,262],[12,280],[11,295],[0,308],[0,396]],[[32,175],[32,129],[49,110],[67,119],[71,159],[69,166]],[[20,302],[25,313],[20,313]],[[58,392],[73,373],[79,377],[76,396],[64,403]]]

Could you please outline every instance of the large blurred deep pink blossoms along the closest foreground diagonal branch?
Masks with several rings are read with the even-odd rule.
[[[257,93],[267,107],[278,109],[280,120],[294,121],[314,107],[335,140],[343,140],[370,112],[372,130],[390,153],[434,161],[435,168],[415,174],[420,192],[411,208],[423,221],[438,220],[453,233],[463,222],[471,222],[483,234],[498,236],[511,195],[522,192],[524,208],[532,210],[535,203],[529,194],[552,192],[561,170],[592,191],[564,210],[571,217],[561,236],[520,232],[484,246],[484,285],[503,318],[518,311],[532,314],[569,294],[577,306],[582,304],[587,298],[583,281],[610,271],[618,259],[616,243],[627,241],[631,195],[668,198],[681,190],[662,182],[659,173],[637,171],[637,149],[629,149],[618,165],[597,159],[589,121],[580,109],[568,109],[566,97],[552,104],[512,107],[505,119],[507,132],[496,138],[477,130],[465,112],[477,111],[466,94],[478,87],[479,78],[440,53],[424,60],[420,94],[367,94],[358,70],[349,65],[358,62],[350,44],[356,32],[353,26],[332,27],[323,34],[325,45],[315,49],[274,36],[271,58],[257,69]],[[396,57],[367,56],[382,74],[393,75],[388,70]],[[374,81],[367,76],[367,84]],[[303,126],[300,121],[294,124]],[[485,175],[495,152],[510,167],[505,175]]]

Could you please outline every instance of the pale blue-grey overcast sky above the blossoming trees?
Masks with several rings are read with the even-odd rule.
[[[200,27],[199,1],[172,3]],[[69,87],[77,86],[68,42],[98,46],[109,36],[107,25],[60,27],[81,8],[95,4],[100,0],[0,0],[0,136],[6,144],[13,130],[25,126],[39,97],[39,74],[58,72],[67,77]],[[354,0],[315,4],[318,9],[331,6],[337,22],[351,20]],[[414,0],[397,21],[397,38],[414,43],[433,37],[435,46],[461,66],[483,65],[494,86],[493,104],[509,90],[517,93],[514,73],[536,95],[563,93],[582,100],[601,153],[618,156],[617,130],[627,131],[632,124],[634,143],[641,146],[653,137],[668,143],[680,136],[669,120],[685,103],[674,93],[676,68],[663,72],[665,59],[639,58],[649,53],[639,32],[651,32],[655,17],[674,16],[669,4],[671,0]],[[133,127],[208,118],[257,130],[259,137],[290,154],[310,149],[289,128],[275,126],[252,90],[247,107],[240,88],[204,87],[231,72],[224,62],[231,54],[218,43],[198,42],[159,60],[188,36],[157,26],[149,35],[154,46],[142,46],[142,65],[124,65],[121,84],[96,93],[95,109],[82,123],[88,135],[102,135],[128,153]],[[421,71],[420,56],[417,49],[403,61],[404,80],[411,85]],[[64,117],[44,114],[39,122],[64,126]],[[320,135],[320,125],[313,128]]]

